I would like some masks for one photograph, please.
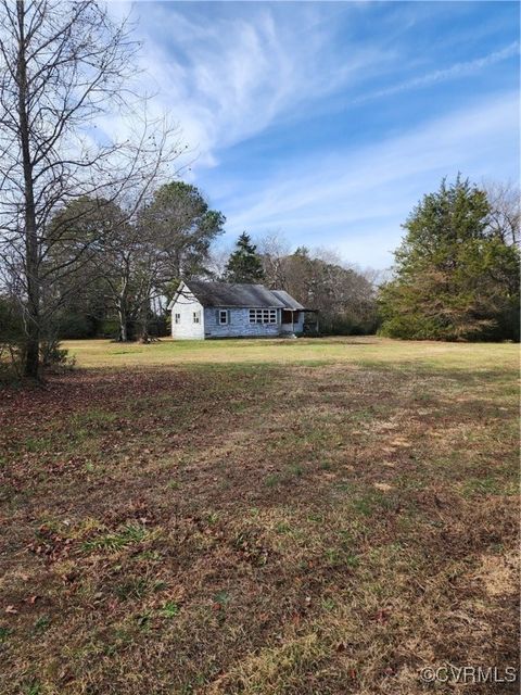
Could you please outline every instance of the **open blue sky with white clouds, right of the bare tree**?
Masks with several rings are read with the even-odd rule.
[[[128,9],[127,3],[120,5]],[[140,2],[185,178],[243,229],[385,268],[442,177],[519,179],[517,2]]]

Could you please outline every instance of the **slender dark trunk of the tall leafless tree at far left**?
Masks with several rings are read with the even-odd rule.
[[[26,331],[27,343],[24,372],[33,379],[39,372],[40,344],[40,287],[38,278],[38,238],[36,229],[35,193],[33,187],[33,165],[29,150],[29,126],[27,118],[27,65],[25,55],[25,8],[23,0],[16,2],[18,21],[18,56],[16,81],[18,87],[20,139],[24,170],[25,197],[25,277],[27,286]]]

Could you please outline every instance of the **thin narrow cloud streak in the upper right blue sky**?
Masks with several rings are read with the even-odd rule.
[[[391,97],[392,94],[409,91],[410,89],[417,89],[418,87],[428,87],[429,85],[435,85],[437,83],[443,83],[449,79],[457,79],[460,77],[472,75],[491,65],[500,63],[508,58],[518,55],[519,48],[519,42],[513,41],[500,51],[493,51],[492,53],[488,53],[488,55],[476,58],[472,61],[455,63],[450,67],[446,67],[444,70],[435,70],[431,73],[428,73],[427,75],[414,77],[412,79],[405,80],[397,85],[392,85],[391,87],[385,87],[385,89],[380,89],[369,94],[363,94],[355,100],[355,103],[361,103],[372,99],[379,99],[381,97]]]

